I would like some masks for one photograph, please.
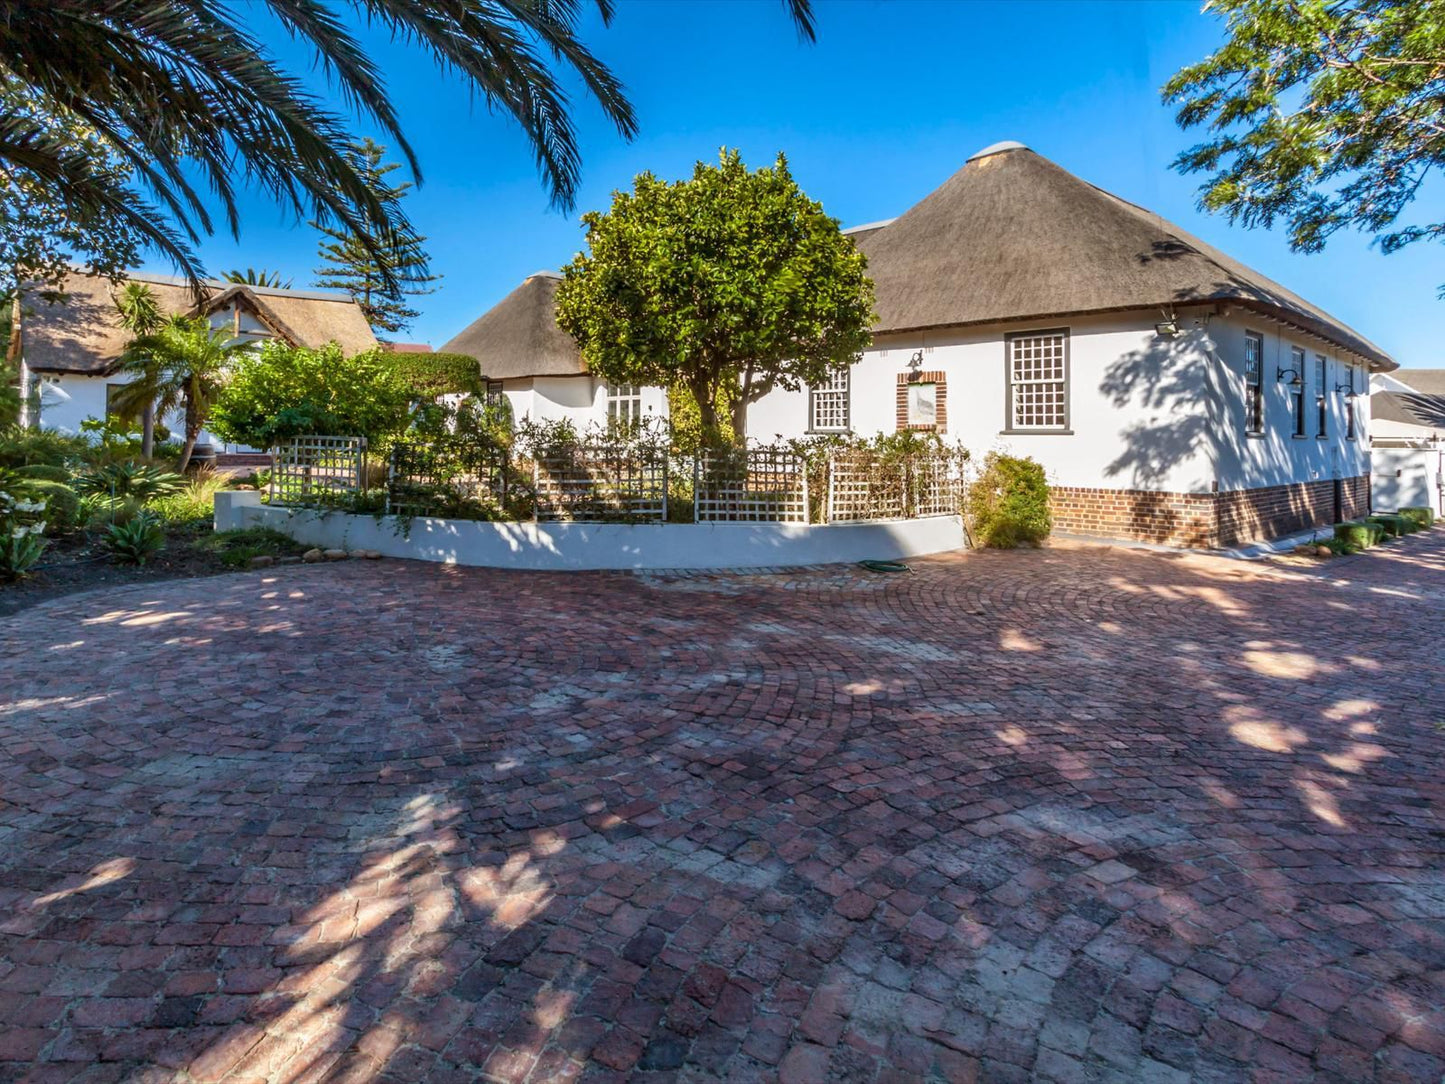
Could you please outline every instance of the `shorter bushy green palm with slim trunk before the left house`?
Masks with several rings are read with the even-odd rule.
[[[153,392],[156,413],[163,416],[178,408],[185,413],[178,471],[191,465],[191,452],[225,384],[227,369],[251,348],[250,343],[230,340],[230,330],[212,328],[207,317],[171,317],[159,331],[133,338],[121,356],[121,370],[136,374],[136,380],[118,393],[120,409],[133,409],[131,396]]]

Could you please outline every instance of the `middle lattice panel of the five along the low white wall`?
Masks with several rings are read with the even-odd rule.
[[[668,519],[668,457],[579,445],[539,454],[535,460],[539,520]]]

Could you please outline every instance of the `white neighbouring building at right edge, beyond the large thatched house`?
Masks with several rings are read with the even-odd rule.
[[[1376,376],[1370,395],[1370,477],[1376,506],[1445,515],[1445,369]]]

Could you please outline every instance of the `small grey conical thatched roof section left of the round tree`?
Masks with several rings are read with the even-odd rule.
[[[577,343],[556,325],[556,272],[529,275],[520,286],[442,347],[481,363],[488,380],[585,373]]]

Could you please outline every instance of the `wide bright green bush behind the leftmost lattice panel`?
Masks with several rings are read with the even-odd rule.
[[[374,442],[406,428],[415,397],[393,357],[381,350],[347,357],[335,343],[316,350],[263,343],[236,360],[210,425],[253,448],[309,434]]]

